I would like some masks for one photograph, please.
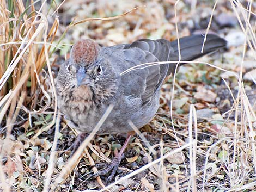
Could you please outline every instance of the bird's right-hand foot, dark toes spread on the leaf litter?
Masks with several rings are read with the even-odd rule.
[[[120,162],[121,162],[121,157],[118,155],[113,158],[111,163],[101,163],[101,164],[90,166],[89,169],[92,169],[95,167],[100,170],[95,173],[93,173],[93,171],[88,172],[86,175],[84,175],[84,176],[89,175],[89,177],[87,177],[85,181],[88,181],[90,178],[96,178],[97,176],[106,175],[110,172],[110,175],[106,180],[106,184],[108,184],[108,182],[112,180],[115,173],[117,172]]]

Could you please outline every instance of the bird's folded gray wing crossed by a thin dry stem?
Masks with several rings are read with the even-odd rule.
[[[172,48],[167,40],[142,39],[132,44],[118,45],[111,48],[122,50],[119,57],[124,60],[120,66],[123,71],[144,63],[167,61],[172,55],[170,54]],[[161,58],[161,60],[158,58]],[[147,65],[138,67],[138,69],[121,77],[121,81],[125,85],[123,88],[125,95],[139,96],[143,104],[148,103],[155,92],[160,89],[168,72],[168,65],[145,66]]]

